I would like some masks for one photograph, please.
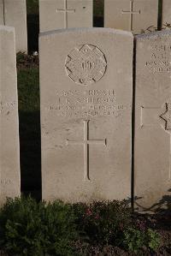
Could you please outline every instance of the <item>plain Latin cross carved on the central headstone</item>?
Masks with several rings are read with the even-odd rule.
[[[84,146],[84,166],[85,175],[84,180],[90,181],[89,175],[89,145],[103,145],[106,146],[106,139],[104,140],[89,140],[89,121],[84,121],[84,140],[66,140],[66,145],[83,145]]]

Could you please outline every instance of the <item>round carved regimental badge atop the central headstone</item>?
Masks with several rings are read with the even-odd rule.
[[[103,52],[97,46],[81,45],[68,54],[65,68],[71,80],[77,84],[89,86],[103,77],[107,62]]]

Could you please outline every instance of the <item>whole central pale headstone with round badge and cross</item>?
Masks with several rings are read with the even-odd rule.
[[[133,35],[41,33],[43,199],[130,199]]]

